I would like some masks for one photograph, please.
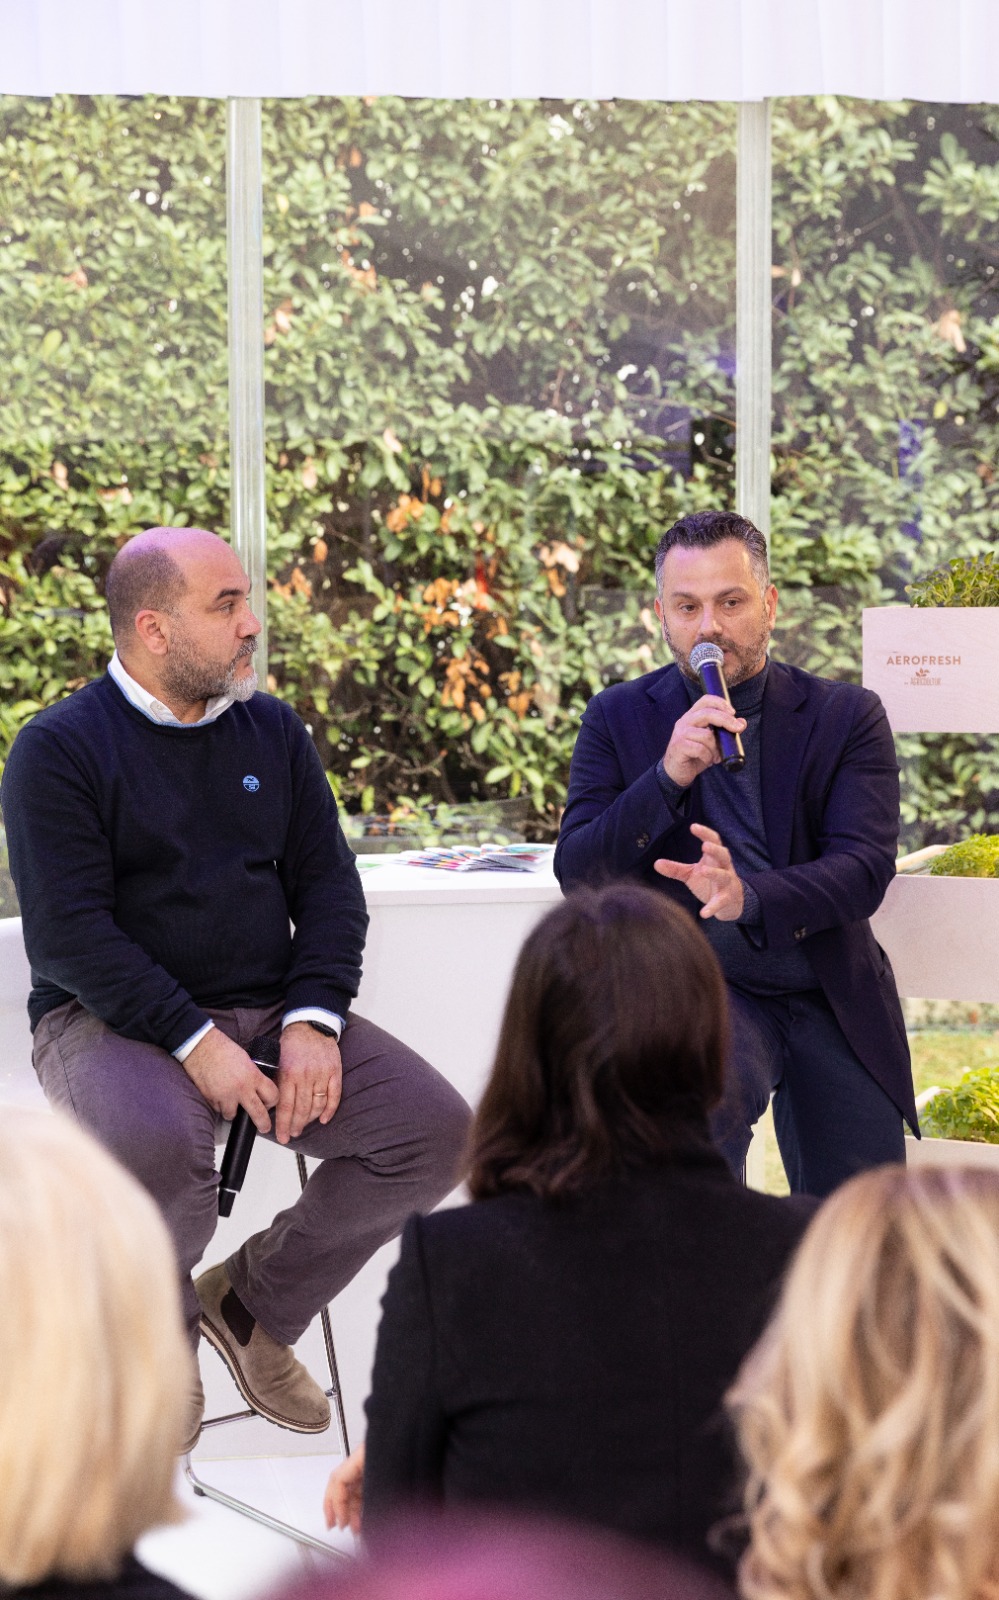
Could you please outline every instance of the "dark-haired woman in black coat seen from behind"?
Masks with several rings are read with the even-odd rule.
[[[475,1502],[708,1555],[736,1504],[722,1395],[813,1210],[711,1147],[725,1043],[717,962],[664,896],[581,890],[528,936],[472,1205],[413,1218],[389,1278],[365,1533]]]

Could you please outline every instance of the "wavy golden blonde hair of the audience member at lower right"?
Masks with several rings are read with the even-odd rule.
[[[728,1406],[746,1600],[973,1600],[999,1566],[999,1174],[884,1166],[816,1214]]]

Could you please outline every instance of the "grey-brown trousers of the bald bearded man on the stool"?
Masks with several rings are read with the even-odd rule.
[[[210,1014],[245,1046],[277,1032],[282,1011],[275,1005]],[[455,1187],[467,1136],[471,1114],[458,1091],[373,1022],[349,1018],[341,1056],[336,1115],[325,1126],[311,1123],[288,1146],[320,1165],[295,1205],[226,1262],[247,1310],[282,1344],[301,1338],[411,1211],[429,1211]],[[173,1056],[114,1034],[77,1000],[42,1018],[34,1064],[51,1104],[90,1128],[158,1203],[197,1344],[191,1270],[218,1222],[215,1146],[226,1123]]]

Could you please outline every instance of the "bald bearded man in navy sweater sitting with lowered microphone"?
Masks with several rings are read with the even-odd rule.
[[[213,533],[131,539],[107,574],[109,670],[18,734],[2,798],[46,1096],[162,1206],[192,1342],[200,1326],[261,1414],[322,1432],[327,1397],[290,1346],[451,1189],[469,1114],[426,1061],[349,1016],[360,877],[304,725],[256,693],[248,595]],[[272,1083],[247,1045],[279,1032]],[[320,1165],[194,1285],[219,1118],[239,1106]]]

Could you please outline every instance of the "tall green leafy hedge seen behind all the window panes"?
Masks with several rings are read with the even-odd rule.
[[[994,120],[775,109],[778,651],[829,675],[996,541]],[[101,669],[122,539],[227,528],[224,109],[5,99],[0,136],[6,749]],[[719,106],[264,107],[272,688],[349,810],[551,835],[586,698],[663,659],[655,539],[732,501],[733,152]],[[988,826],[991,747],[900,749],[913,843]]]

